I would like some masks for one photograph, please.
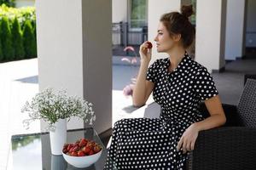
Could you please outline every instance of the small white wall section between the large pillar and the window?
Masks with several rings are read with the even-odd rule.
[[[112,22],[127,22],[128,0],[112,0]]]

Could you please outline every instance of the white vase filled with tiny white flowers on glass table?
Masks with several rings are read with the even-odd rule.
[[[56,91],[46,88],[35,95],[31,102],[21,109],[27,112],[29,118],[23,121],[23,125],[29,128],[31,122],[44,120],[48,123],[50,148],[53,155],[61,155],[63,144],[67,142],[67,122],[72,116],[82,118],[84,122],[96,120],[92,104],[78,96],[67,95],[66,90]]]

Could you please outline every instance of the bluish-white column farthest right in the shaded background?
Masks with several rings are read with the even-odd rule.
[[[245,53],[245,9],[245,0],[227,1],[225,59],[235,60]]]

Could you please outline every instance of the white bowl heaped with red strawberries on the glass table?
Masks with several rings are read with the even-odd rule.
[[[102,155],[102,146],[90,139],[79,139],[73,144],[64,144],[64,159],[73,167],[89,167]]]

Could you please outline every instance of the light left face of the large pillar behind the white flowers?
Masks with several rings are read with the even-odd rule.
[[[37,1],[36,8],[39,91],[65,88],[83,97],[81,2],[44,0]],[[81,120],[68,123],[68,128],[79,127],[84,127]]]

